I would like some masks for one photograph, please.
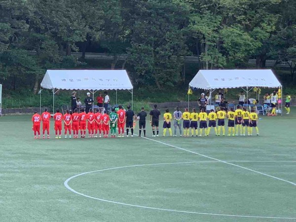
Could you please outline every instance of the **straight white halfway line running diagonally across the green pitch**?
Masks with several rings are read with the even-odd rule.
[[[136,135],[136,134],[135,134]],[[214,158],[214,157],[211,157],[211,156],[207,156],[207,155],[204,155],[204,154],[201,154],[201,153],[198,153],[198,152],[194,152],[194,151],[191,151],[191,150],[188,150],[188,149],[185,149],[185,148],[181,148],[181,147],[176,147],[174,145],[170,145],[170,144],[167,144],[167,143],[163,143],[161,141],[157,141],[157,140],[153,140],[153,139],[150,139],[150,138],[147,138],[147,137],[143,137],[144,139],[146,140],[150,140],[150,141],[154,141],[156,143],[159,143],[159,144],[163,144],[163,145],[166,145],[166,146],[169,146],[169,147],[173,147],[173,148],[177,148],[177,149],[181,149],[181,150],[184,150],[184,151],[187,151],[187,152],[191,152],[191,153],[194,153],[194,154],[197,154],[199,156],[203,156],[203,157],[206,157],[208,159],[213,159],[213,160],[217,160],[221,163],[225,163],[225,164],[228,164],[228,165],[232,165],[232,166],[236,166],[236,167],[239,167],[239,168],[242,168],[242,169],[245,169],[245,170],[249,170],[249,171],[252,171],[254,173],[258,173],[258,174],[261,174],[261,175],[264,175],[266,177],[270,177],[270,178],[273,178],[273,179],[276,179],[276,180],[279,180],[279,181],[283,181],[283,182],[287,182],[289,184],[292,184],[292,185],[295,185],[296,186],[296,183],[293,183],[291,181],[287,181],[287,180],[284,180],[284,179],[281,179],[281,178],[278,178],[278,177],[275,177],[275,176],[271,176],[269,174],[264,174],[262,172],[259,172],[257,170],[252,170],[250,168],[247,168],[247,167],[243,167],[243,166],[240,166],[240,165],[237,165],[237,164],[233,164],[233,163],[230,163],[230,162],[226,162],[224,160],[221,160],[221,159],[217,159],[217,158]]]

